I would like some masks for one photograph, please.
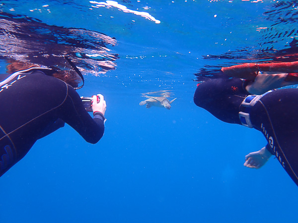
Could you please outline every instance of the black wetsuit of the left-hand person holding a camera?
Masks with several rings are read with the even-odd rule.
[[[0,74],[0,176],[64,122],[89,143],[103,136],[104,116],[92,118],[74,88],[46,71]]]

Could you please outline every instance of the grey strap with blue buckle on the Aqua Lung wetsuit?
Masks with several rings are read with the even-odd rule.
[[[244,111],[239,111],[239,119],[242,125],[248,128],[253,128],[253,125],[250,121],[249,112],[260,98],[262,98],[262,95],[249,95],[243,100],[240,107],[243,106]]]

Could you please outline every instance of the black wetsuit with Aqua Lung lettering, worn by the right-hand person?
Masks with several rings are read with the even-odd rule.
[[[242,124],[239,112],[247,108],[241,103],[249,95],[240,79],[215,79],[198,85],[194,102],[224,122]],[[252,127],[266,137],[266,149],[298,185],[297,111],[298,89],[291,88],[264,94],[245,112],[249,113]]]

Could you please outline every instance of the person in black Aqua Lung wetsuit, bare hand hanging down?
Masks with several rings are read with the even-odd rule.
[[[298,185],[298,89],[269,91],[297,84],[285,81],[287,75],[259,74],[253,82],[209,80],[198,85],[194,102],[224,122],[261,131],[268,144],[248,154],[244,166],[260,168],[275,155]]]

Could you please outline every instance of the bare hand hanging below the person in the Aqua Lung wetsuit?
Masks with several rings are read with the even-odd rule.
[[[266,147],[263,147],[257,152],[249,153],[248,155],[246,155],[244,166],[256,169],[261,168],[271,156],[271,152],[266,149]]]

